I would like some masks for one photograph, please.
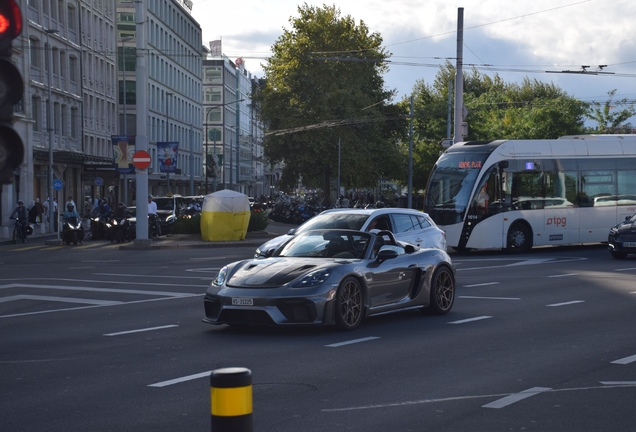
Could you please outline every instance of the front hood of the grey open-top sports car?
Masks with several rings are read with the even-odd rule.
[[[233,288],[274,288],[309,272],[333,265],[320,258],[266,258],[247,261],[235,269],[226,285]]]

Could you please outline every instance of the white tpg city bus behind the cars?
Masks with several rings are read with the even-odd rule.
[[[636,213],[636,135],[457,143],[431,172],[424,211],[460,252],[606,242]]]

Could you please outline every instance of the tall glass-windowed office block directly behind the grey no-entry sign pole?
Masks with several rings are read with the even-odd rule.
[[[191,4],[176,0],[147,0],[143,26],[148,76],[147,112],[136,107],[136,17],[135,3],[117,3],[117,57],[119,134],[134,138],[137,116],[147,119],[148,192],[199,195],[203,186],[201,26],[190,15]],[[159,145],[158,145],[159,143]],[[171,164],[173,173],[161,172],[163,143],[177,143]],[[174,156],[174,155],[170,155]],[[130,202],[134,202],[134,176],[126,178]],[[145,197],[144,197],[145,199]]]

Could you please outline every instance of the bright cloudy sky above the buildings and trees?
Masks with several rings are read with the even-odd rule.
[[[335,5],[342,16],[382,36],[392,53],[384,79],[387,89],[397,90],[393,102],[408,97],[418,79],[432,84],[446,60],[455,65],[459,8],[465,71],[474,65],[505,82],[527,77],[553,83],[587,102],[605,102],[612,90],[615,100],[636,100],[633,0],[194,0],[192,15],[204,45],[221,39],[225,55],[242,57],[261,78],[261,64],[304,3]],[[582,66],[596,72],[599,65],[606,65],[603,74],[547,72],[579,72]]]

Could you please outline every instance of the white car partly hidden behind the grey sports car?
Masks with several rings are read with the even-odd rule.
[[[273,238],[260,245],[255,258],[266,256],[283,245],[296,234],[312,229],[372,229],[391,231],[399,241],[420,248],[437,248],[446,251],[446,233],[426,213],[405,208],[341,208],[325,210],[307,220],[285,235]]]

